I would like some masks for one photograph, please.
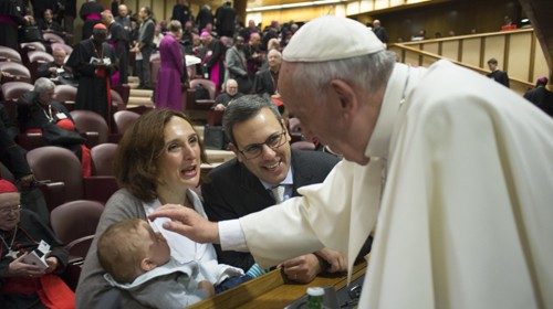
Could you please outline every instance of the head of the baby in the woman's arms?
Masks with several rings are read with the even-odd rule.
[[[129,219],[107,227],[100,236],[97,255],[102,267],[116,281],[126,284],[167,263],[170,248],[146,221]]]

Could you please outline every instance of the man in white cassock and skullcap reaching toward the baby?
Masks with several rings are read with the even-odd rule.
[[[263,266],[326,246],[351,270],[374,233],[359,308],[553,308],[547,115],[447,61],[396,63],[344,18],[306,23],[283,61],[286,108],[345,160],[303,196],[240,220],[173,205],[154,216]]]

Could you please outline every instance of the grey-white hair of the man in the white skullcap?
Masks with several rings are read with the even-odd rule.
[[[323,95],[332,79],[346,81],[374,93],[386,85],[395,63],[396,54],[389,51],[326,62],[298,62],[292,81],[301,81],[316,96]]]

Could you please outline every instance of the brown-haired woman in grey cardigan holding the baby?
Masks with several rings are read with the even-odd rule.
[[[107,201],[95,239],[114,223],[127,219],[147,220],[147,214],[167,203],[194,209],[206,216],[200,199],[192,191],[200,182],[202,162],[206,162],[204,146],[182,113],[155,109],[138,118],[119,142],[115,159],[115,175],[123,189]],[[218,264],[211,244],[198,244],[168,233],[163,227],[164,222],[161,219],[148,223],[167,239],[171,249],[171,260],[175,260],[176,265],[198,265],[210,285],[219,285],[229,277],[243,274],[241,269]],[[76,290],[76,303],[80,308],[94,307],[103,294],[112,289],[109,283],[104,279],[106,271],[100,265],[96,252],[95,241],[86,256]],[[164,267],[170,268],[167,265]],[[174,268],[170,269],[175,271]],[[176,277],[171,278],[173,285],[177,285]],[[140,286],[143,287],[144,285]],[[204,298],[207,296],[204,295]],[[134,298],[132,292],[122,294],[123,308],[159,306],[157,297],[147,300]],[[184,307],[187,303],[173,305]]]

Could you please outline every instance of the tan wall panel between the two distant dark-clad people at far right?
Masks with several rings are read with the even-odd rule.
[[[528,33],[513,34],[509,42],[509,76],[528,81],[530,66],[531,35]]]

